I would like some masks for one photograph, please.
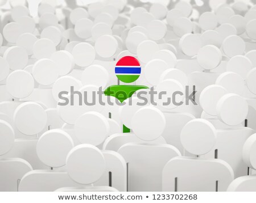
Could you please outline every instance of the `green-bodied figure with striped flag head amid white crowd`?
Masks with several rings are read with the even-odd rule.
[[[135,82],[141,74],[141,65],[139,61],[132,56],[122,57],[115,65],[115,75],[124,83]],[[121,103],[130,98],[135,91],[146,89],[146,86],[140,85],[113,85],[105,90],[106,96],[114,96]],[[123,133],[129,133],[130,129],[123,125]]]

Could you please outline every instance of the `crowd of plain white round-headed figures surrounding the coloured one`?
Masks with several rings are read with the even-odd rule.
[[[0,191],[256,191],[254,3],[0,1]],[[58,105],[123,56],[197,105]]]

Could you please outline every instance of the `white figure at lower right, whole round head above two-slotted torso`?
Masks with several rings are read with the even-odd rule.
[[[209,121],[189,121],[181,131],[185,150],[196,157],[176,157],[163,169],[163,191],[226,191],[234,179],[232,168],[224,160],[200,158],[216,142],[216,129]]]

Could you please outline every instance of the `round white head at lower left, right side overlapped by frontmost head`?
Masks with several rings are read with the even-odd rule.
[[[36,153],[39,159],[49,167],[65,165],[67,155],[74,143],[68,133],[60,129],[45,132],[38,140]]]

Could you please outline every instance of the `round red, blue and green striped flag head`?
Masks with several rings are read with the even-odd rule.
[[[132,56],[125,56],[115,65],[115,75],[117,78],[125,83],[136,81],[141,74],[141,64]]]

